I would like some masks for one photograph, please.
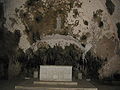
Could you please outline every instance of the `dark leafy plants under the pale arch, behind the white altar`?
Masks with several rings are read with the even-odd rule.
[[[35,70],[39,71],[40,65],[72,66],[73,79],[78,80],[78,73],[82,73],[83,79],[99,79],[98,70],[103,61],[94,57],[91,52],[87,52],[85,60],[82,58],[83,52],[76,45],[41,47],[33,52],[31,48],[26,50],[26,62],[22,62],[26,75],[32,77]],[[21,61],[19,61],[21,62]]]

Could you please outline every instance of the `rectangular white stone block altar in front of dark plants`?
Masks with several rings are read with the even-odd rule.
[[[72,81],[72,66],[40,66],[40,81]]]

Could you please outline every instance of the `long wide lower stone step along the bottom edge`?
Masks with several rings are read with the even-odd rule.
[[[97,88],[64,88],[64,87],[27,87],[15,86],[15,90],[98,90]]]

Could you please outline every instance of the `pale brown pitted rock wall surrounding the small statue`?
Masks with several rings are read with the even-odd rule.
[[[118,63],[112,64],[109,61],[120,61],[114,58],[116,55],[119,57],[119,4],[119,0],[8,0],[5,1],[6,27],[11,32],[20,30],[19,47],[24,51],[31,45],[36,48],[39,41],[48,35],[52,38],[52,34],[69,35],[83,46],[91,44],[91,52],[95,56],[107,58],[108,63],[103,68],[107,64],[116,66]],[[62,25],[61,30],[56,31],[58,15]],[[72,43],[64,39],[63,42]],[[51,45],[61,44],[55,40],[49,42]],[[118,72],[116,68],[113,71]]]

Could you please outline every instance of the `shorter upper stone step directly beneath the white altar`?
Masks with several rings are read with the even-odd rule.
[[[41,84],[41,85],[70,85],[70,86],[77,86],[77,82],[57,82],[57,81],[34,81],[34,84]]]

